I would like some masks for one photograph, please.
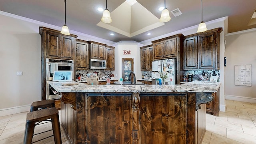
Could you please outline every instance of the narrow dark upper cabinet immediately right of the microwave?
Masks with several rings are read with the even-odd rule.
[[[106,46],[106,70],[115,70],[115,47]]]

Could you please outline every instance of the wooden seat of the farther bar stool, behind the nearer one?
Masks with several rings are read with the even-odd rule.
[[[54,100],[42,100],[33,102],[30,106],[30,112],[44,109],[44,108],[53,108],[55,107],[55,101]]]

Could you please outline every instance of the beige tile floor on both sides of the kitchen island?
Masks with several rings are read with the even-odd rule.
[[[26,113],[0,117],[0,144],[22,144]],[[48,130],[51,124],[36,126],[38,130]],[[61,128],[62,144],[69,144]],[[44,134],[51,135],[52,131]],[[40,139],[34,136],[33,141]],[[34,144],[54,144],[53,137]],[[256,144],[256,104],[226,100],[226,112],[219,116],[206,114],[206,134],[202,144]]]

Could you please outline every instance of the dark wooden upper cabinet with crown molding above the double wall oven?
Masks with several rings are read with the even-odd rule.
[[[42,36],[43,58],[74,60],[76,35],[66,36],[57,30],[44,27],[39,27],[39,34]]]

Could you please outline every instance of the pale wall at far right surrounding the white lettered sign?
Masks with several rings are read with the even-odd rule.
[[[256,28],[226,36],[225,95],[229,100],[256,103]],[[252,86],[235,86],[234,66],[252,65]]]

